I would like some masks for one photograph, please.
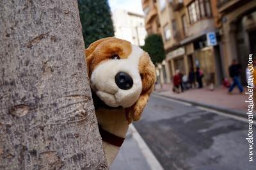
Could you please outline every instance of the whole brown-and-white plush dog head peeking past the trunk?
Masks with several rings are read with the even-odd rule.
[[[132,120],[139,120],[156,82],[147,52],[109,37],[92,43],[85,55],[93,92],[110,107],[129,108]]]

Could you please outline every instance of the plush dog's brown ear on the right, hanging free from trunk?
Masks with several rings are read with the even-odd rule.
[[[142,75],[142,91],[139,99],[131,107],[132,120],[140,120],[141,113],[148,102],[150,93],[154,89],[154,84],[156,82],[156,68],[150,61],[148,54],[145,52],[140,59],[139,66],[140,73]]]

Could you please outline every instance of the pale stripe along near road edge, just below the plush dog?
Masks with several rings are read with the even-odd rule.
[[[163,170],[163,167],[158,162],[157,158],[152,153],[150,148],[148,148],[147,144],[145,143],[145,141],[143,140],[143,138],[141,137],[139,132],[136,130],[134,125],[132,125],[132,124],[129,125],[129,128],[131,129],[132,137],[137,142],[137,144],[138,144],[138,146],[141,150],[141,153],[143,154],[143,156],[147,160],[147,163],[148,163],[148,166],[150,167],[150,169],[152,169],[152,170]]]

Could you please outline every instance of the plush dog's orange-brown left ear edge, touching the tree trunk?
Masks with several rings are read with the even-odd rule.
[[[96,42],[93,42],[90,44],[90,46],[84,50],[84,54],[85,54],[85,59],[86,59],[86,65],[87,65],[87,72],[88,72],[88,75],[90,76],[90,65],[92,65],[92,61],[93,61],[93,51],[96,49],[96,47],[106,41],[106,40],[109,40],[113,37],[108,37],[108,38],[102,38],[100,40],[97,40]]]

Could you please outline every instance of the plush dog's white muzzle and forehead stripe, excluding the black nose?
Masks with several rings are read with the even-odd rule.
[[[142,82],[139,61],[143,50],[132,45],[132,52],[127,59],[111,59],[100,63],[92,72],[92,89],[106,105],[111,107],[131,107],[140,97]],[[115,76],[118,72],[128,73],[133,80],[132,88],[118,88]]]

